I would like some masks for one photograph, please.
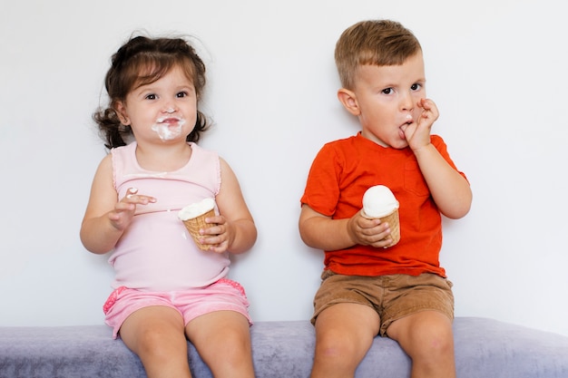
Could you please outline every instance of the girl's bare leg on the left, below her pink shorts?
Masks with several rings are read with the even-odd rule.
[[[174,309],[155,305],[135,311],[120,334],[140,357],[148,378],[191,378],[183,319]]]

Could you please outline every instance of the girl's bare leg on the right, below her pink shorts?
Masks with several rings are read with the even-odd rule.
[[[215,378],[254,378],[249,320],[235,311],[201,315],[186,334]]]

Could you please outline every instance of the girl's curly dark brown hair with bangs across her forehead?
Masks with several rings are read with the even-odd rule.
[[[106,73],[104,86],[109,96],[106,108],[93,113],[107,149],[124,146],[125,137],[132,136],[130,126],[119,120],[116,105],[136,87],[155,82],[173,67],[181,67],[195,86],[198,102],[205,88],[205,64],[195,49],[182,38],[132,37],[113,54],[112,65]],[[197,121],[187,141],[199,141],[201,132],[209,128],[209,121],[197,111]]]

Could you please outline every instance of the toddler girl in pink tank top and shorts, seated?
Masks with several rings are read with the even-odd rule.
[[[197,141],[205,65],[181,38],[133,37],[113,54],[110,102],[97,121],[110,153],[93,179],[81,239],[111,252],[114,291],[105,321],[138,354],[148,377],[191,377],[187,340],[215,377],[253,377],[248,300],[226,278],[230,254],[257,230],[239,181]],[[196,247],[178,211],[212,198],[216,216]]]

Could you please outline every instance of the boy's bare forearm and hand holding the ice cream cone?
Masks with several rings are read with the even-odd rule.
[[[299,215],[299,235],[309,247],[333,251],[357,244],[387,247],[391,244],[390,228],[380,219],[367,219],[361,212],[351,218],[332,219],[303,205]]]

